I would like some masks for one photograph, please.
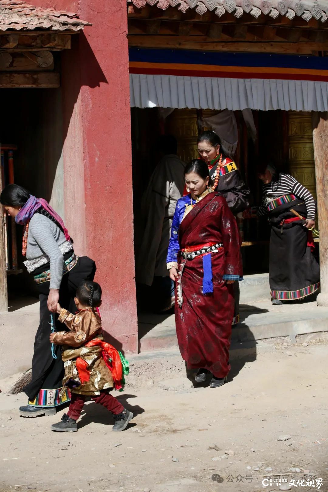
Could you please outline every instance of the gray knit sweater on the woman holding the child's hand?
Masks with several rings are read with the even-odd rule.
[[[28,245],[24,265],[31,273],[50,262],[50,289],[59,289],[64,264],[63,254],[73,249],[62,230],[41,214],[30,219]]]

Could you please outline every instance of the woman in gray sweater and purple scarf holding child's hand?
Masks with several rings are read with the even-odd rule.
[[[21,417],[53,415],[56,407],[70,399],[62,390],[64,374],[60,345],[51,346],[51,322],[57,331],[57,304],[75,311],[74,297],[84,280],[93,280],[95,263],[74,253],[73,242],[62,219],[43,199],[17,184],[8,184],[0,203],[16,223],[24,226],[24,265],[33,276],[40,298],[40,324],[34,341],[31,381],[24,387],[28,405],[20,407]],[[60,327],[62,330],[62,327]]]

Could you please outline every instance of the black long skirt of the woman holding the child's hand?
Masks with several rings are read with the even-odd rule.
[[[45,268],[47,270],[47,268]],[[70,312],[76,311],[74,297],[77,288],[84,280],[93,280],[96,266],[87,256],[79,257],[75,267],[63,275],[60,284],[60,306]],[[34,272],[35,274],[35,272]],[[65,400],[59,396],[62,387],[64,366],[61,360],[61,347],[54,345],[54,358],[49,341],[51,313],[47,307],[50,282],[38,284],[40,298],[40,324],[34,340],[32,359],[32,379],[23,391],[29,397],[29,403],[37,406],[56,406]],[[55,331],[65,331],[65,325],[53,314]],[[67,398],[66,398],[67,399]]]

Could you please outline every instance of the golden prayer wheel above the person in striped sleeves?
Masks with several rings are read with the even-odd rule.
[[[311,113],[288,113],[289,171],[317,198]]]

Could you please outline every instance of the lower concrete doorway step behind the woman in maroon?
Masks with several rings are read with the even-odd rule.
[[[175,317],[143,314],[139,317],[139,351],[178,347]],[[232,330],[232,342],[289,337],[328,331],[328,308],[315,302],[272,306],[270,301],[240,305],[240,323]]]

